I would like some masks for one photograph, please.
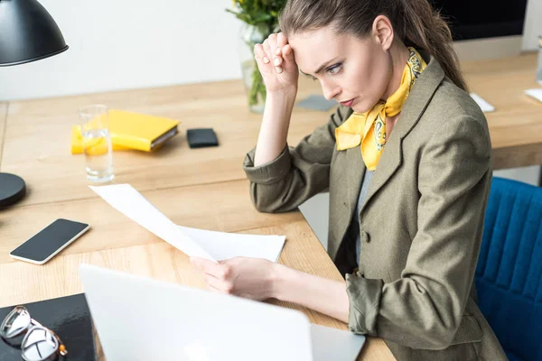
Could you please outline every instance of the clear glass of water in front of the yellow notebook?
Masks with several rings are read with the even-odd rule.
[[[79,109],[87,179],[113,180],[113,150],[109,134],[107,106],[91,105]]]

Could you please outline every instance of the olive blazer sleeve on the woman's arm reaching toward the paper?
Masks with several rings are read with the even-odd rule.
[[[350,330],[412,348],[443,349],[453,341],[474,277],[491,183],[487,126],[462,116],[440,128],[418,158],[418,229],[401,278],[346,278]]]

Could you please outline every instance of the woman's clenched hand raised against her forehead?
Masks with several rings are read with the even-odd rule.
[[[284,33],[273,33],[263,44],[256,44],[254,55],[267,92],[279,93],[297,88],[299,70]]]

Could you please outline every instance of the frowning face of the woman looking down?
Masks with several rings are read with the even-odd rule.
[[[369,111],[384,97],[392,75],[388,52],[378,38],[337,35],[330,27],[288,38],[295,62],[319,80],[323,95],[355,112]]]

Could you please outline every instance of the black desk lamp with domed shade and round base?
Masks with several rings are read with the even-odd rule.
[[[51,15],[36,0],[0,0],[0,66],[41,60],[68,45]],[[24,180],[0,173],[0,208],[24,197]]]

